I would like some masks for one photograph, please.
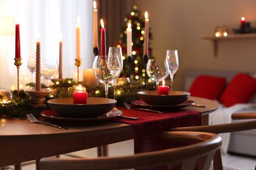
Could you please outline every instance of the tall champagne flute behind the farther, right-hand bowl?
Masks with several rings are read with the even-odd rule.
[[[171,78],[171,90],[173,90],[173,76],[179,68],[179,58],[178,50],[167,50],[166,52],[166,61],[168,65],[168,70]]]

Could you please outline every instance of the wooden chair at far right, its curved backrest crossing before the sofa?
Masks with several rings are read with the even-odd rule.
[[[256,119],[256,112],[248,113],[234,113],[232,114],[232,119]],[[175,127],[171,128],[170,131],[205,131],[210,133],[230,133],[235,131],[246,131],[250,129],[256,129],[256,120],[246,121],[246,122],[236,122],[230,124],[217,124],[210,126],[190,126],[190,127]],[[213,169],[221,170],[223,169],[223,163],[221,159],[221,150],[217,150],[213,158]]]

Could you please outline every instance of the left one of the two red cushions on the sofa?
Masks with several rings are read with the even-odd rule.
[[[217,99],[226,86],[226,78],[218,76],[200,75],[190,87],[190,95],[206,99]]]

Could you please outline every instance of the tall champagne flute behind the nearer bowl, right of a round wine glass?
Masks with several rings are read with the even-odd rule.
[[[120,76],[120,73],[123,69],[123,59],[121,48],[119,47],[110,47],[108,50],[108,69],[114,75],[113,85],[114,85],[114,99],[116,99],[116,80]],[[110,112],[113,114],[121,113],[121,110],[118,110],[116,107]],[[111,114],[111,113],[110,113]]]

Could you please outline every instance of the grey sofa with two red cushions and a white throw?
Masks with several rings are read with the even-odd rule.
[[[236,88],[236,92],[245,90],[243,93],[250,93],[252,95],[247,97],[242,103],[234,103],[232,101],[236,97],[236,94],[223,96],[228,91],[229,86],[234,85],[234,79],[236,76],[249,77],[237,80],[235,86],[241,86]],[[204,76],[204,80],[198,82],[199,77]],[[207,79],[208,78],[208,79]],[[209,78],[213,78],[212,80]],[[214,79],[215,78],[215,79]],[[247,84],[245,83],[248,78]],[[202,79],[202,78],[201,78]],[[224,83],[225,80],[225,83]],[[251,82],[250,82],[251,81]],[[196,84],[196,82],[198,82]],[[219,82],[219,84],[217,83]],[[240,71],[205,71],[205,70],[185,70],[182,72],[182,90],[190,92],[192,96],[207,97],[214,99],[220,103],[219,109],[209,114],[209,124],[222,124],[237,121],[248,121],[248,120],[232,120],[231,114],[234,112],[256,112],[256,73],[241,73]],[[231,84],[231,85],[230,85]],[[244,85],[243,85],[244,84]],[[200,87],[201,86],[201,87]],[[207,86],[208,90],[203,93],[203,88]],[[216,87],[219,86],[218,90]],[[209,90],[211,89],[211,90]],[[234,89],[233,89],[234,90]],[[249,91],[251,90],[251,91]],[[217,92],[218,91],[218,92]],[[214,92],[214,93],[209,93]],[[218,93],[218,94],[217,94]],[[238,98],[238,97],[237,97]],[[243,98],[243,97],[240,97]],[[226,101],[225,101],[226,100]],[[228,101],[230,100],[230,101]],[[228,102],[229,103],[228,103]],[[230,103],[231,102],[231,103]],[[233,103],[232,103],[233,102]],[[226,117],[226,118],[224,118]],[[224,134],[223,135],[223,154],[226,152],[232,152],[236,154],[244,154],[247,156],[256,156],[256,129],[249,131],[240,131],[236,133]]]

